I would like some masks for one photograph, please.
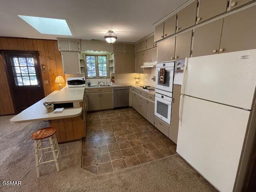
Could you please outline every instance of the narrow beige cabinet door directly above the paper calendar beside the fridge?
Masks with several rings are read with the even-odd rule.
[[[177,35],[175,58],[190,57],[192,30]]]

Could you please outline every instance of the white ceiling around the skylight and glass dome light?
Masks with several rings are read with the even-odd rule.
[[[153,23],[186,0],[0,0],[0,36],[104,40],[113,30],[118,41],[136,42],[154,32]],[[73,36],[40,34],[17,15],[65,19]]]

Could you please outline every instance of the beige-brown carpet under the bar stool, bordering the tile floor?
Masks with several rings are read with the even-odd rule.
[[[47,122],[10,124],[0,117],[0,181],[21,181],[21,186],[2,186],[2,192],[212,192],[216,191],[177,154],[147,164],[96,176],[80,168],[82,141],[60,144],[60,172],[54,163],[40,167],[36,178],[30,134]]]

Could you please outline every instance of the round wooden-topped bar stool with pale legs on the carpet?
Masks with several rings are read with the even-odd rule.
[[[56,133],[56,128],[54,127],[46,127],[46,128],[42,128],[40,130],[35,131],[32,135],[31,138],[34,140],[34,150],[35,150],[35,155],[36,155],[36,176],[39,177],[39,165],[40,164],[44,164],[44,163],[48,163],[48,162],[55,162],[55,166],[57,171],[60,171],[59,166],[58,166],[58,162],[57,162],[57,158],[58,156],[61,157],[60,155],[60,149],[58,146],[58,142],[55,136]],[[43,142],[46,142],[47,140],[43,140],[49,138],[50,141],[50,147],[45,147],[43,145]],[[56,149],[54,148],[54,146],[56,147]],[[51,150],[49,151],[48,149]],[[47,150],[46,152],[44,152],[44,150]],[[41,152],[41,157],[38,160],[38,151]],[[58,151],[57,155],[56,155],[56,151]],[[50,153],[52,152],[53,155],[53,160],[48,160],[48,161],[44,161],[44,154],[46,153]]]

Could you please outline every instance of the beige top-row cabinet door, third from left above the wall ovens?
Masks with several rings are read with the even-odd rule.
[[[197,1],[192,2],[178,12],[177,31],[184,30],[196,24]]]

